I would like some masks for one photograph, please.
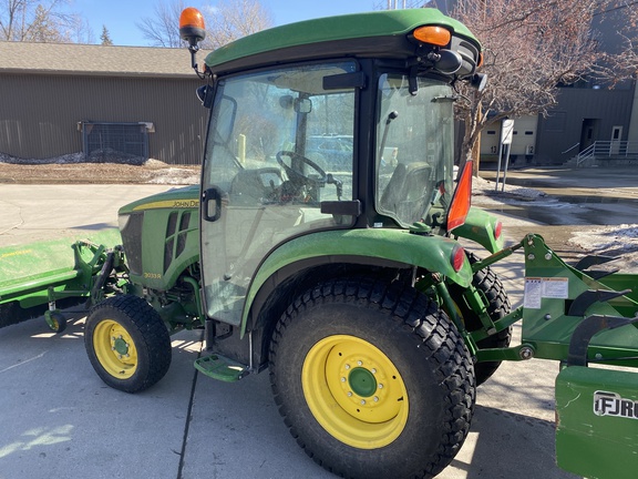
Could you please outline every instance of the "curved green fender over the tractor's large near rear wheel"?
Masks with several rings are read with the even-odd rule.
[[[282,278],[275,276],[286,266],[308,259],[315,259],[315,264],[335,263],[339,257],[371,265],[391,262],[439,272],[460,286],[469,287],[472,267],[467,258],[459,272],[451,264],[456,247],[456,241],[443,236],[421,236],[404,230],[385,228],[337,230],[294,238],[271,252],[257,269],[244,305],[241,335],[257,294],[269,279],[279,283]]]

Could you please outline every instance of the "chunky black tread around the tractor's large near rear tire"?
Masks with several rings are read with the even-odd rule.
[[[288,418],[289,412],[284,400],[286,391],[279,390],[277,386],[279,383],[277,350],[288,326],[308,308],[338,302],[377,306],[387,313],[393,323],[412,335],[424,361],[433,361],[436,365],[434,368],[436,379],[446,390],[444,412],[446,427],[441,431],[435,457],[410,476],[434,477],[452,461],[467,436],[476,397],[474,369],[462,337],[445,313],[402,282],[387,284],[369,277],[333,279],[300,295],[287,308],[275,327],[269,350],[272,393],[285,424],[298,445],[317,463],[343,477],[357,477],[336,470],[329,462],[330,458],[317,457],[311,447],[302,441]]]

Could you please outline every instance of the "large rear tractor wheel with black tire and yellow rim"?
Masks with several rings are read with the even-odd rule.
[[[270,346],[275,400],[297,442],[352,478],[430,478],[461,448],[475,385],[470,354],[412,288],[339,279],[301,295]]]

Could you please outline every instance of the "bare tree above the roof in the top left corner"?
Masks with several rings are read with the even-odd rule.
[[[78,17],[66,0],[0,0],[0,40],[68,42]]]

